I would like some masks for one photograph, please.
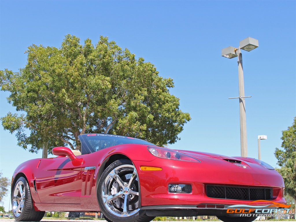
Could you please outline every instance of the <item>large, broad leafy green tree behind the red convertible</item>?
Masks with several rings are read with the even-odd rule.
[[[160,77],[153,64],[107,37],[94,46],[90,39],[81,45],[67,35],[60,48],[32,45],[26,53],[25,68],[0,71],[1,90],[9,91],[8,102],[22,111],[1,120],[30,152],[65,144],[80,149],[83,133],[173,144],[191,119],[169,92],[173,79]]]

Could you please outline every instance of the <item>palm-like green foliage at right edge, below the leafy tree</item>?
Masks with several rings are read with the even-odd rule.
[[[296,151],[292,152],[291,158],[287,159],[284,165],[276,169],[284,179],[285,194],[288,194],[294,199],[296,208]],[[295,210],[296,219],[296,210]]]

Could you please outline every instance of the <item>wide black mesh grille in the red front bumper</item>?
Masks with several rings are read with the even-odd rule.
[[[232,200],[272,200],[272,188],[207,185],[208,197]]]

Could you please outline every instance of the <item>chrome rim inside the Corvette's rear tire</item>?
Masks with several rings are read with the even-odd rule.
[[[19,181],[15,186],[12,197],[12,211],[16,217],[19,217],[22,213],[25,203],[25,197],[25,184],[22,181]]]

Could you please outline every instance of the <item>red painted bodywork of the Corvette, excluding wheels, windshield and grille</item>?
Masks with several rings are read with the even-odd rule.
[[[237,157],[247,166],[243,168],[223,160],[235,159],[233,157],[192,151],[180,152],[196,157],[201,163],[157,158],[148,151],[147,145],[123,144],[77,156],[73,161],[68,157],[29,160],[17,167],[12,179],[15,181],[19,173],[25,175],[35,210],[99,211],[96,197],[99,177],[107,160],[112,155],[120,154],[129,158],[136,167],[141,206],[201,203],[234,205],[250,202],[209,198],[205,194],[207,184],[268,186],[274,188],[274,202],[286,202],[282,192],[284,181],[280,174],[255,163],[252,158]],[[142,171],[141,166],[160,167],[163,170]],[[86,167],[95,169],[86,170]],[[192,193],[168,193],[168,184],[173,183],[191,184]]]

